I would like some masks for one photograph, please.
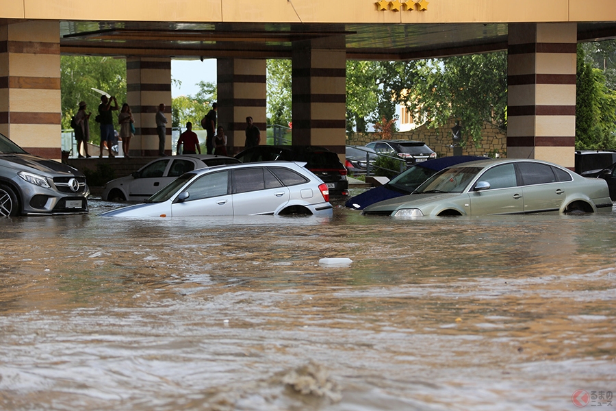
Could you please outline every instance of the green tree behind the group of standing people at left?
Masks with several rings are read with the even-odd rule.
[[[60,93],[62,99],[62,128],[70,128],[70,118],[79,110],[79,101],[86,101],[90,118],[90,140],[97,144],[101,132],[94,117],[98,113],[101,94],[97,88],[116,96],[118,105],[126,101],[126,60],[86,55],[62,55],[60,58]],[[118,118],[114,116],[118,127]]]

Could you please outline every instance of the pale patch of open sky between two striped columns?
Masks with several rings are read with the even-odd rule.
[[[182,82],[177,87],[171,84],[171,97],[196,95],[198,82],[216,83],[216,59],[207,60],[171,60],[172,79]]]

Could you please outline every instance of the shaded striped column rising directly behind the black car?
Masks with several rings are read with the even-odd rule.
[[[319,145],[344,159],[346,48],[337,36],[294,43],[293,144]],[[343,160],[344,161],[344,160]]]

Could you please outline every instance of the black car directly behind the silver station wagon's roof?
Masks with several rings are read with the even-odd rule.
[[[241,162],[300,161],[323,180],[332,196],[348,195],[348,178],[344,164],[333,151],[318,146],[259,145],[240,151]]]

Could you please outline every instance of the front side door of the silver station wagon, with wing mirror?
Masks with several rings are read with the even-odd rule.
[[[229,190],[229,171],[216,171],[201,175],[179,193],[188,192],[188,198],[171,205],[172,216],[231,216],[233,198]]]

